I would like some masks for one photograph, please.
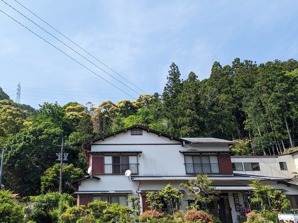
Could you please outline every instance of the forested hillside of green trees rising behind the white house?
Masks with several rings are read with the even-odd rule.
[[[6,148],[2,184],[23,196],[57,190],[55,160],[62,137],[73,164],[64,170],[65,180],[73,180],[83,174],[79,168],[86,169],[82,142],[134,124],[178,137],[238,140],[232,148],[237,155],[275,155],[298,142],[298,61],[214,62],[205,80],[193,72],[182,80],[172,63],[161,94],[99,106],[70,102],[29,108],[0,89],[0,144]]]

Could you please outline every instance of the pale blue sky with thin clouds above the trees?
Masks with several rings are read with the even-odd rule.
[[[17,1],[0,0],[0,87],[15,100],[20,83],[21,104],[35,109],[161,94],[172,62],[182,79],[203,80],[214,61],[298,59],[297,0]]]

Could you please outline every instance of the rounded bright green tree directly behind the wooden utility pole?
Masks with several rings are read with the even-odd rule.
[[[75,179],[83,177],[84,172],[80,168],[75,168],[73,164],[63,165],[62,167],[62,179],[63,182],[71,182]],[[41,176],[41,192],[55,192],[59,190],[59,176],[60,176],[60,164],[55,164],[53,167],[46,169]],[[62,184],[63,193],[72,193],[73,189],[68,185]]]

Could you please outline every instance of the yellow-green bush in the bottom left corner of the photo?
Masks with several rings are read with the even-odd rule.
[[[20,205],[12,202],[11,192],[0,190],[0,222],[22,223],[23,218],[23,209]]]

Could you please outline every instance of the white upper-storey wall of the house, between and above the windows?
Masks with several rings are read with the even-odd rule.
[[[139,175],[141,176],[186,175],[184,155],[179,150],[228,151],[227,144],[200,143],[182,146],[182,143],[176,140],[147,131],[143,131],[143,135],[131,135],[130,131],[127,131],[94,144],[96,145],[92,145],[91,152],[142,151],[138,155]]]

